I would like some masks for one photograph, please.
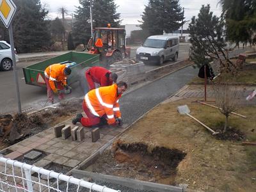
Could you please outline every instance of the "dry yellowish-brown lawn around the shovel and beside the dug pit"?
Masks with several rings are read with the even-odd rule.
[[[190,189],[204,191],[255,191],[256,147],[239,142],[216,140],[207,130],[180,115],[177,106],[188,104],[191,115],[214,129],[225,122],[218,109],[178,100],[161,104],[136,123],[120,139],[127,143],[144,142],[153,147],[178,148],[187,153],[178,166],[176,183],[189,184]],[[230,126],[241,129],[248,140],[256,141],[256,108],[241,108],[243,119],[230,116]]]

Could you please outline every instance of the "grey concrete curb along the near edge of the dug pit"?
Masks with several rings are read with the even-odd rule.
[[[81,170],[73,170],[72,175],[74,177],[82,179],[83,177],[92,178],[93,180],[99,180],[102,182],[110,182],[112,184],[119,184],[127,188],[140,189],[140,190],[152,190],[152,191],[161,191],[161,192],[183,192],[183,188],[176,186],[169,186],[164,184],[157,184],[154,182],[147,182],[136,179],[116,177],[113,175],[104,175],[101,173],[92,173]]]

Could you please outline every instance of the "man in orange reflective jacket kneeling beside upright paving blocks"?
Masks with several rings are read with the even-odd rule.
[[[122,126],[123,121],[119,108],[119,99],[127,89],[127,84],[123,81],[102,86],[91,90],[84,96],[83,110],[87,117],[81,113],[72,120],[72,124],[80,122],[84,127],[92,127],[100,123],[100,118],[105,117],[109,125]]]

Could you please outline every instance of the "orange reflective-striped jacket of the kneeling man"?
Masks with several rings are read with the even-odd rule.
[[[115,124],[115,117],[121,117],[119,108],[119,98],[117,96],[117,84],[102,86],[91,90],[84,96],[84,102],[95,116],[108,116],[108,124]]]

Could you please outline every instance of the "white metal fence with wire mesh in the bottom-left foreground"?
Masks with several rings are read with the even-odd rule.
[[[0,157],[0,191],[120,192],[4,157]]]

